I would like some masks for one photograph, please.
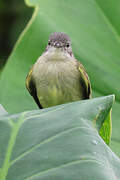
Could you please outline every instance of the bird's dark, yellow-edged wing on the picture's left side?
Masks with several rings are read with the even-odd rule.
[[[31,96],[33,96],[33,98],[34,98],[35,102],[37,103],[37,105],[39,106],[39,108],[42,109],[43,107],[41,106],[39,99],[37,97],[37,91],[36,91],[35,83],[32,78],[32,72],[33,72],[33,67],[31,68],[31,70],[29,71],[29,73],[26,77],[26,88],[29,91],[29,93],[31,94]]]

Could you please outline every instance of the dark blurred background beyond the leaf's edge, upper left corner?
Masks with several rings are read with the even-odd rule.
[[[33,8],[27,7],[24,0],[0,0],[0,68],[32,13]]]

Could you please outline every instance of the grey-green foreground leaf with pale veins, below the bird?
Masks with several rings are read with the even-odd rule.
[[[112,102],[106,96],[1,118],[0,179],[119,179],[120,159],[93,126],[100,109],[102,126]]]

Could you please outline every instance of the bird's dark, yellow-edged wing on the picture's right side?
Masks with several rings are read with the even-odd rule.
[[[84,97],[85,97],[85,99],[89,99],[89,98],[91,98],[91,94],[92,94],[91,83],[90,83],[89,77],[85,71],[84,66],[79,61],[77,61],[77,62],[78,62],[78,69],[81,74],[81,84],[84,89]]]

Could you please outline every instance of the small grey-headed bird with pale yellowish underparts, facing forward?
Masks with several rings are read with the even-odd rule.
[[[89,77],[75,59],[67,34],[50,35],[46,50],[27,75],[26,87],[41,109],[91,97]]]

